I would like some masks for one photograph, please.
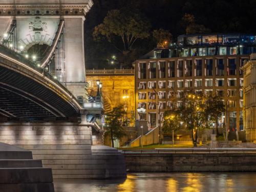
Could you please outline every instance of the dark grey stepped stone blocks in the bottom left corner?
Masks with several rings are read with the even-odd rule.
[[[33,160],[32,152],[0,143],[0,191],[54,192],[52,169]]]

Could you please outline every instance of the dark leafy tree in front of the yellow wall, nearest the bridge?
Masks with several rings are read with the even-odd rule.
[[[110,113],[105,114],[105,130],[106,134],[111,136],[112,147],[114,147],[114,140],[125,136],[121,121],[123,114],[125,112],[122,105],[116,106]]]

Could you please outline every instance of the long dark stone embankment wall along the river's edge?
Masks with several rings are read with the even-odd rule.
[[[256,154],[125,154],[128,172],[256,172]]]

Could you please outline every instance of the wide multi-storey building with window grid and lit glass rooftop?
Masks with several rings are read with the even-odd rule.
[[[136,108],[146,109],[136,118],[156,127],[165,110],[180,105],[182,92],[194,89],[223,98],[227,109],[219,127],[243,130],[242,67],[254,52],[250,34],[182,35],[168,49],[153,50],[136,61]]]

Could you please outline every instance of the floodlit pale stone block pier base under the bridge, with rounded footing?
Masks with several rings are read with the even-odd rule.
[[[2,123],[0,142],[31,151],[33,159],[52,168],[54,179],[126,177],[122,154],[110,147],[92,149],[90,124]]]

